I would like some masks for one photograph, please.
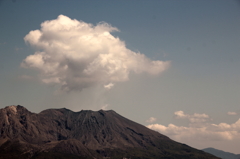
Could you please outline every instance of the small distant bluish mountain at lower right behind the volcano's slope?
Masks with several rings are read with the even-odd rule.
[[[206,148],[203,149],[203,151],[215,155],[217,157],[220,157],[222,159],[240,159],[240,154],[236,155],[234,153],[225,152],[214,148]]]

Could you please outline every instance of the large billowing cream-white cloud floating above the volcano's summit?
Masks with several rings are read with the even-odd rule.
[[[169,61],[152,61],[127,49],[113,31],[118,29],[105,22],[94,26],[59,15],[24,37],[36,52],[21,66],[38,70],[44,83],[65,91],[127,81],[131,72],[158,75],[168,68]]]

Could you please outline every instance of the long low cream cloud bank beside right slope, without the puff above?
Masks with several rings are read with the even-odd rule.
[[[226,123],[221,123],[219,125],[205,125],[203,127],[184,127],[184,126],[176,126],[174,124],[169,124],[168,126],[164,126],[161,124],[152,124],[147,127],[160,133],[169,136],[170,138],[184,142],[189,140],[194,140],[195,142],[203,142],[209,140],[234,140],[239,139],[240,129],[238,120],[236,123],[232,125],[228,125]]]

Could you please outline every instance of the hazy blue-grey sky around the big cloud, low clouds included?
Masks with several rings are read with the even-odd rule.
[[[128,50],[170,65],[152,75],[151,66],[142,64],[145,72],[110,80],[109,90],[97,82],[59,91],[59,84],[43,82],[41,70],[21,66],[38,51],[24,37],[59,15],[92,26],[104,21],[119,30],[110,34]],[[234,0],[1,0],[0,108],[113,109],[190,146],[240,153],[239,17],[240,2]]]

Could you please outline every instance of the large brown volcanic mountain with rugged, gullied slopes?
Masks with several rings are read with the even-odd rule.
[[[73,112],[23,106],[0,109],[0,159],[201,158],[213,155],[177,143],[113,110]]]

